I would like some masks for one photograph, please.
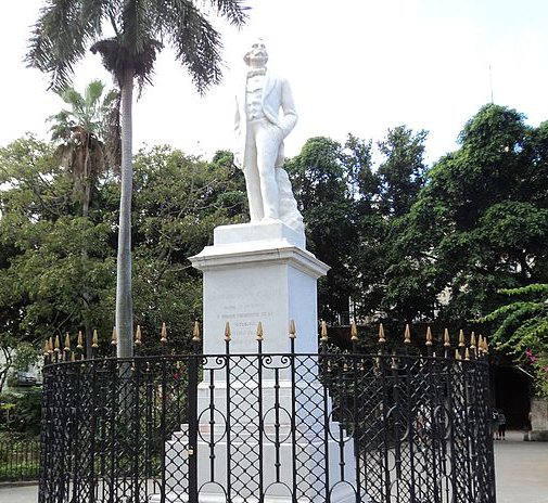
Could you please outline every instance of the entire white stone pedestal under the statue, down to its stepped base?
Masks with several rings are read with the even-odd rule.
[[[311,503],[326,494],[322,473],[329,473],[331,502],[356,501],[353,440],[331,417],[331,400],[317,381],[317,357],[306,357],[304,371],[292,381],[289,366],[273,359],[270,367],[263,367],[258,365],[263,360],[251,356],[257,353],[258,322],[264,328],[263,354],[289,353],[290,320],[297,328],[295,354],[318,352],[316,284],[329,268],[304,246],[303,234],[282,222],[244,223],[215,229],[214,245],[191,257],[193,267],[204,274],[205,362],[204,382],[197,389],[194,453],[200,502],[226,502],[224,491],[229,483],[231,503],[257,502],[260,478],[265,503],[295,501],[294,482],[298,485],[296,501]],[[226,353],[227,322],[232,333],[230,353],[250,356],[240,362],[230,359],[228,388],[227,360],[207,357]],[[281,366],[278,373],[272,370],[277,365]],[[264,369],[260,379],[258,366]],[[188,426],[183,425],[166,446],[166,472],[175,474],[166,480],[169,502],[188,501],[188,480],[176,475],[177,466],[186,463],[187,444]],[[347,464],[344,481],[342,459]]]

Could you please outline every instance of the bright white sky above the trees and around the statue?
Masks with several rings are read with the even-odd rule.
[[[196,0],[201,1],[201,0]],[[30,26],[44,0],[23,0],[0,17],[0,146],[26,131],[48,139],[46,118],[64,104],[48,76],[25,67]],[[455,150],[459,131],[493,100],[537,126],[548,118],[546,0],[244,0],[246,26],[218,24],[225,78],[200,96],[168,49],[153,86],[133,108],[133,149],[169,144],[211,158],[233,150],[234,94],[243,54],[260,36],[269,67],[291,82],[298,122],[285,153],[308,138],[373,142],[388,128],[429,131],[426,160]],[[490,70],[489,70],[490,68]],[[95,78],[112,85],[100,57],[76,67],[80,92]]]

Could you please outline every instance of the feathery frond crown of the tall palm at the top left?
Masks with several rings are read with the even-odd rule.
[[[241,26],[245,22],[240,1],[209,3],[231,24]],[[114,37],[102,38],[105,24]],[[200,91],[219,81],[220,34],[190,0],[51,0],[34,26],[27,63],[50,74],[52,88],[63,90],[91,44],[118,81],[127,68],[132,68],[142,87],[150,81],[164,41],[175,48],[177,60],[188,68]]]

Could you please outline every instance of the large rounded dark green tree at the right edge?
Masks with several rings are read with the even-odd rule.
[[[546,282],[547,133],[497,105],[469,120],[395,231],[395,313],[460,327],[500,306],[500,288]]]

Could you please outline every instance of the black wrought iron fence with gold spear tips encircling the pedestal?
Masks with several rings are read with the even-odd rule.
[[[494,503],[486,348],[426,344],[50,363],[39,502]]]

